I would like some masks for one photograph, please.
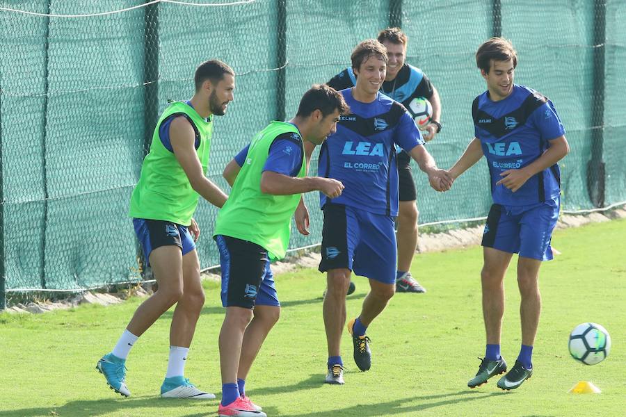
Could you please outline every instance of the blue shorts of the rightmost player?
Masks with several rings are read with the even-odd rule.
[[[551,260],[550,240],[559,218],[559,205],[559,197],[529,206],[493,204],[482,245],[525,258]]]

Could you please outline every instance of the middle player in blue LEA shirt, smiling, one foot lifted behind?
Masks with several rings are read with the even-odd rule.
[[[399,145],[428,174],[431,186],[447,190],[449,174],[439,170],[406,108],[379,90],[387,71],[387,49],[378,40],[358,44],[352,56],[353,88],[342,90],[351,113],[340,117],[337,132],[321,147],[319,175],[346,187],[341,197],[321,195],[324,212],[321,272],[328,272],[323,302],[328,342],[326,383],[344,384],[340,352],[346,322],[346,290],[353,270],[369,278],[371,291],[358,318],[348,323],[354,359],[361,370],[371,366],[367,327],[387,306],[396,289]]]

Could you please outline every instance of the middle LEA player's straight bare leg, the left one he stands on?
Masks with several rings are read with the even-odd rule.
[[[346,293],[350,285],[350,270],[332,269],[326,275],[328,291],[324,298],[324,327],[328,356],[341,356],[342,331],[346,324]]]

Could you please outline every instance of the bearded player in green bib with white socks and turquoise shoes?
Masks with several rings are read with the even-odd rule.
[[[208,60],[195,70],[195,94],[174,101],[163,111],[152,135],[150,153],[141,167],[130,212],[143,254],[152,266],[158,289],[131,318],[126,330],[97,363],[113,391],[128,397],[126,359],[139,336],[172,305],[170,358],[161,397],[211,399],[184,377],[185,361],[195,323],[204,305],[200,262],[195,241],[200,229],[193,212],[201,195],[221,207],[226,195],[204,177],[214,116],[224,115],[233,99],[234,72],[218,60]]]

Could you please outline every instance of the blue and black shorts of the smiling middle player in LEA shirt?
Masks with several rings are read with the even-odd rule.
[[[342,204],[326,204],[320,272],[348,268],[383,284],[396,281],[394,219]]]

